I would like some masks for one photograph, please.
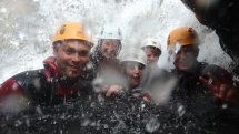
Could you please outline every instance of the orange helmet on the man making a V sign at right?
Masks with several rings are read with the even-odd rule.
[[[172,30],[168,35],[167,49],[177,42],[180,45],[198,45],[200,43],[198,33],[190,27],[180,27]]]

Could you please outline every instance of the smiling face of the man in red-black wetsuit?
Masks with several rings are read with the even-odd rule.
[[[90,47],[80,40],[68,40],[53,47],[56,64],[63,76],[79,78],[89,62]]]

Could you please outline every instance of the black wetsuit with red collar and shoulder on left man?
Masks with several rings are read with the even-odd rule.
[[[26,71],[3,82],[0,87],[1,102],[16,93],[29,99],[32,104],[62,104],[92,91],[90,73],[69,80],[61,76],[53,61],[54,58],[50,56],[43,61],[44,69]]]

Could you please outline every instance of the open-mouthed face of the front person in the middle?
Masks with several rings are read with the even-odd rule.
[[[127,78],[131,86],[132,87],[139,86],[145,65],[139,62],[127,62],[125,66]]]

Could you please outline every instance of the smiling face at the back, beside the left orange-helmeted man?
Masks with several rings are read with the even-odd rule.
[[[119,51],[120,41],[113,39],[103,39],[101,44],[101,53],[107,59],[116,58]]]

